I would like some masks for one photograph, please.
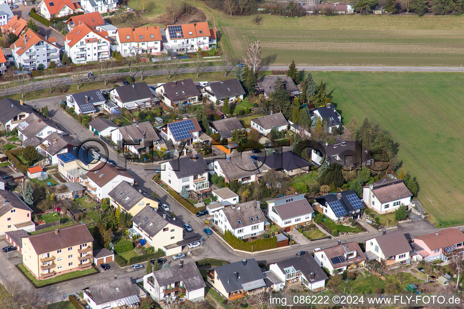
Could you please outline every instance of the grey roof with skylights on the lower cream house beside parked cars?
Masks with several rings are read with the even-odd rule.
[[[148,234],[148,236],[155,236],[161,229],[167,226],[169,223],[180,226],[178,221],[173,220],[169,215],[166,215],[166,219],[163,218],[162,211],[156,211],[149,206],[145,206],[139,211],[134,217],[132,217],[132,222],[134,222],[142,231]]]

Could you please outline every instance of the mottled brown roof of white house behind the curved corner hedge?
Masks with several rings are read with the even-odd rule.
[[[222,208],[233,229],[266,221],[263,211],[256,201],[244,202]],[[251,220],[253,218],[253,220]],[[240,223],[238,223],[240,221]]]

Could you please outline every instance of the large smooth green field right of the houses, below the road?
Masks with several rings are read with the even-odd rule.
[[[402,166],[419,183],[433,224],[464,221],[464,74],[313,72],[326,82],[344,124],[367,116],[399,144]]]

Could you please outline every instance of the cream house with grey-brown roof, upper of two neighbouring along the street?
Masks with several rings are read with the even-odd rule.
[[[158,209],[159,202],[144,189],[134,187],[134,182],[122,181],[118,183],[108,193],[108,196],[112,207],[121,208],[123,212],[133,216],[145,207]]]

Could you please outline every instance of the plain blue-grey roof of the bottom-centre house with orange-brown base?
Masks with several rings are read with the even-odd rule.
[[[244,289],[244,284],[257,281],[255,286],[264,287],[264,274],[255,259],[246,259],[214,268],[227,293]],[[262,280],[262,283],[261,283]]]

